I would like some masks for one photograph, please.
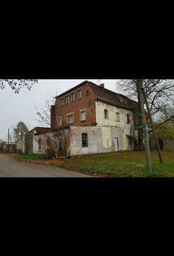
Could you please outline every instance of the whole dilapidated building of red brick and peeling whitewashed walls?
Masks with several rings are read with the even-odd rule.
[[[44,153],[43,136],[54,136],[58,128],[69,131],[68,155],[134,150],[138,136],[134,131],[138,122],[136,111],[136,101],[104,88],[104,84],[84,81],[56,97],[49,130],[30,131],[31,151]],[[63,147],[62,137],[57,143]]]

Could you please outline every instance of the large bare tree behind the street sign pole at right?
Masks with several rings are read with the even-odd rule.
[[[155,116],[155,114],[166,113],[168,111],[168,105],[174,103],[173,81],[166,79],[143,79],[143,82],[151,114]],[[138,123],[140,124],[142,120],[138,79],[121,80],[117,82],[117,88],[126,93],[131,99],[138,101],[139,110],[137,114]],[[138,145],[140,148],[143,146],[143,130],[138,130]]]

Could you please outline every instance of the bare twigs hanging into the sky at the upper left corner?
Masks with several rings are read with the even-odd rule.
[[[5,89],[6,85],[13,89],[14,93],[19,94],[23,87],[26,87],[29,91],[31,87],[36,84],[36,79],[0,79],[0,89]]]

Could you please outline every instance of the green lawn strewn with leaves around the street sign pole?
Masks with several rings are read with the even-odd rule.
[[[146,166],[145,152],[112,152],[83,155],[65,160],[60,167],[107,174],[116,177],[174,177],[174,152],[162,152],[160,164],[157,152],[151,152],[152,171],[136,167]]]

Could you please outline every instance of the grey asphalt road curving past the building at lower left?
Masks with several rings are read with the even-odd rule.
[[[18,162],[7,155],[0,154],[0,177],[90,177],[48,165]]]

